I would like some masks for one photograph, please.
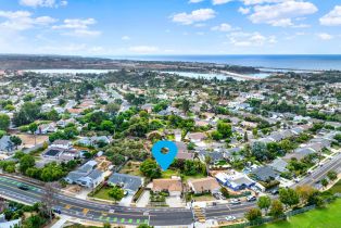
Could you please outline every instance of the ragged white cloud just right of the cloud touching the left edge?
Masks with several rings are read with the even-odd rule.
[[[97,24],[94,18],[67,18],[63,21],[61,25],[52,26],[52,29],[62,29],[62,35],[75,36],[75,37],[97,37],[102,33],[99,30],[92,30],[89,26]]]

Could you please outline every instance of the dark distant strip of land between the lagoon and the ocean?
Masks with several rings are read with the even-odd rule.
[[[84,58],[67,55],[24,55],[0,54],[0,69],[144,69],[144,71],[180,71],[212,73],[229,71],[241,74],[258,73],[260,69],[250,66],[222,65],[199,62],[172,61],[131,61],[111,60],[104,58]]]

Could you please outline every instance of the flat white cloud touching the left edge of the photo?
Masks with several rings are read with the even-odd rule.
[[[10,30],[26,30],[36,26],[47,26],[58,21],[50,16],[33,17],[28,11],[0,11],[0,17],[5,18],[0,23],[0,27]]]

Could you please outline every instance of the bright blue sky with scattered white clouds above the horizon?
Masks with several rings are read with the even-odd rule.
[[[0,0],[0,53],[340,54],[340,0]]]

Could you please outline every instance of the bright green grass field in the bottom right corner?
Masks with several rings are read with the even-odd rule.
[[[341,199],[326,208],[313,210],[290,217],[288,221],[267,224],[257,228],[339,228],[341,227]]]

